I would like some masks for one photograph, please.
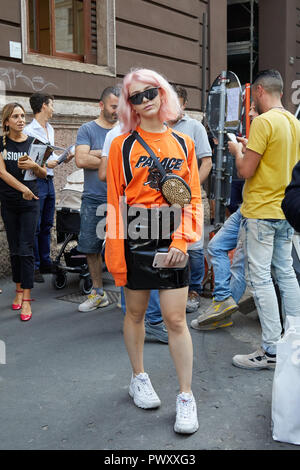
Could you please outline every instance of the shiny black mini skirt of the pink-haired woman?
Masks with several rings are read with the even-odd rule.
[[[126,287],[132,290],[178,289],[189,285],[189,263],[184,268],[154,268],[157,252],[167,253],[171,235],[181,220],[181,209],[163,206],[141,209],[127,206]]]

